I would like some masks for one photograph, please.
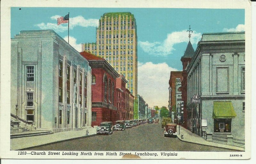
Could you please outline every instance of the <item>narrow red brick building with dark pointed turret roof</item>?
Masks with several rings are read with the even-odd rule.
[[[181,62],[183,65],[183,71],[182,71],[182,78],[181,78],[181,99],[182,101],[184,101],[184,114],[183,114],[183,126],[188,129],[188,127],[190,127],[190,122],[188,120],[190,120],[190,112],[187,112],[187,100],[188,100],[188,90],[187,90],[187,85],[188,85],[188,74],[187,74],[187,66],[188,64],[191,62],[192,57],[195,54],[195,50],[192,47],[192,44],[190,43],[190,41],[188,42],[188,46],[186,48],[186,51],[184,53],[184,55],[181,57]]]

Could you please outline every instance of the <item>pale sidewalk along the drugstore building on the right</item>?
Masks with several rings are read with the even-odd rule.
[[[192,133],[191,131],[183,128],[180,126],[180,135],[183,134],[183,139],[179,135],[179,125],[177,125],[177,137],[184,142],[199,144],[199,145],[207,145],[207,146],[214,146],[214,147],[221,147],[226,149],[232,149],[232,150],[238,150],[238,151],[245,151],[242,147],[232,146],[232,145],[226,145],[226,144],[220,144],[216,142],[206,141],[203,137],[200,137],[196,135],[195,133]]]

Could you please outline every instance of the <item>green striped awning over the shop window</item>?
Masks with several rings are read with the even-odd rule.
[[[231,101],[214,101],[212,118],[234,118],[236,112]]]

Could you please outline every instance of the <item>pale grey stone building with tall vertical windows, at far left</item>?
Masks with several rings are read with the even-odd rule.
[[[91,67],[53,30],[11,39],[11,118],[53,132],[91,126]]]

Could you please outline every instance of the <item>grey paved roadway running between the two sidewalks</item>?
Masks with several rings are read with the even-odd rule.
[[[74,139],[28,150],[63,151],[231,151],[212,146],[197,145],[164,137],[161,124],[144,124],[112,135]]]

